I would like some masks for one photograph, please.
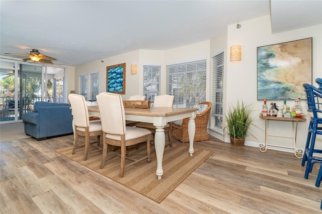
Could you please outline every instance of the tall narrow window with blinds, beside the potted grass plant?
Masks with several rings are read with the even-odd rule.
[[[212,57],[211,115],[215,118],[215,127],[219,129],[222,129],[223,57],[223,52]]]

